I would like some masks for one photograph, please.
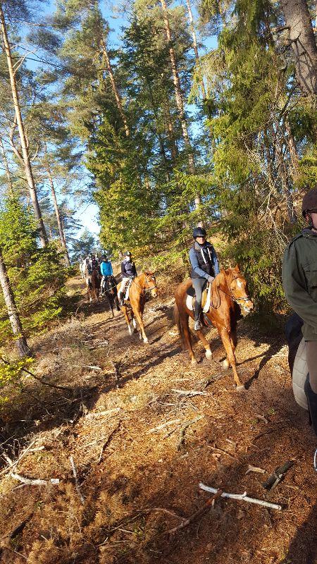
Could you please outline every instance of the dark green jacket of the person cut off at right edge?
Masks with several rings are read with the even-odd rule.
[[[287,301],[304,321],[305,341],[317,341],[317,233],[310,228],[287,245],[282,281]]]

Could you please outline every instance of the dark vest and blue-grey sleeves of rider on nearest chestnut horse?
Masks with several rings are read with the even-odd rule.
[[[189,261],[192,265],[191,278],[207,278],[219,274],[219,262],[213,245],[206,241],[204,245],[194,242],[189,250]]]

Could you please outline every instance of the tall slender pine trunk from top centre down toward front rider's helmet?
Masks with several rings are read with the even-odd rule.
[[[187,152],[188,152],[189,172],[191,174],[194,174],[195,173],[194,156],[192,154],[192,147],[191,147],[190,141],[189,141],[187,123],[186,123],[185,114],[184,114],[184,105],[182,103],[182,90],[180,88],[180,77],[178,75],[178,67],[177,67],[177,64],[176,64],[176,56],[175,56],[175,51],[173,49],[173,44],[172,44],[172,35],[170,33],[170,23],[169,23],[169,20],[168,20],[168,11],[167,11],[167,6],[166,6],[166,0],[161,0],[161,6],[163,8],[163,20],[164,20],[164,25],[165,25],[166,37],[167,37],[168,44],[169,44],[170,66],[172,68],[172,74],[173,74],[173,83],[174,83],[174,89],[175,89],[176,106],[178,107],[178,115],[179,115],[179,118],[180,118],[180,124],[182,125],[182,137],[184,139],[185,147],[186,147]],[[196,205],[197,205],[197,202],[199,203],[199,197],[198,196],[197,196],[197,198],[195,198],[195,204]]]

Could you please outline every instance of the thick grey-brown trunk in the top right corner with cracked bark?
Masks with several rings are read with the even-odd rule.
[[[303,94],[317,94],[317,46],[306,0],[282,0],[285,24],[294,51],[297,80]]]

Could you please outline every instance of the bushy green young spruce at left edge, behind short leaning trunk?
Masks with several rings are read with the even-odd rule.
[[[0,212],[0,245],[23,328],[43,329],[61,314],[67,271],[55,243],[37,247],[35,221],[18,200],[8,200]],[[1,341],[11,335],[0,296]]]

